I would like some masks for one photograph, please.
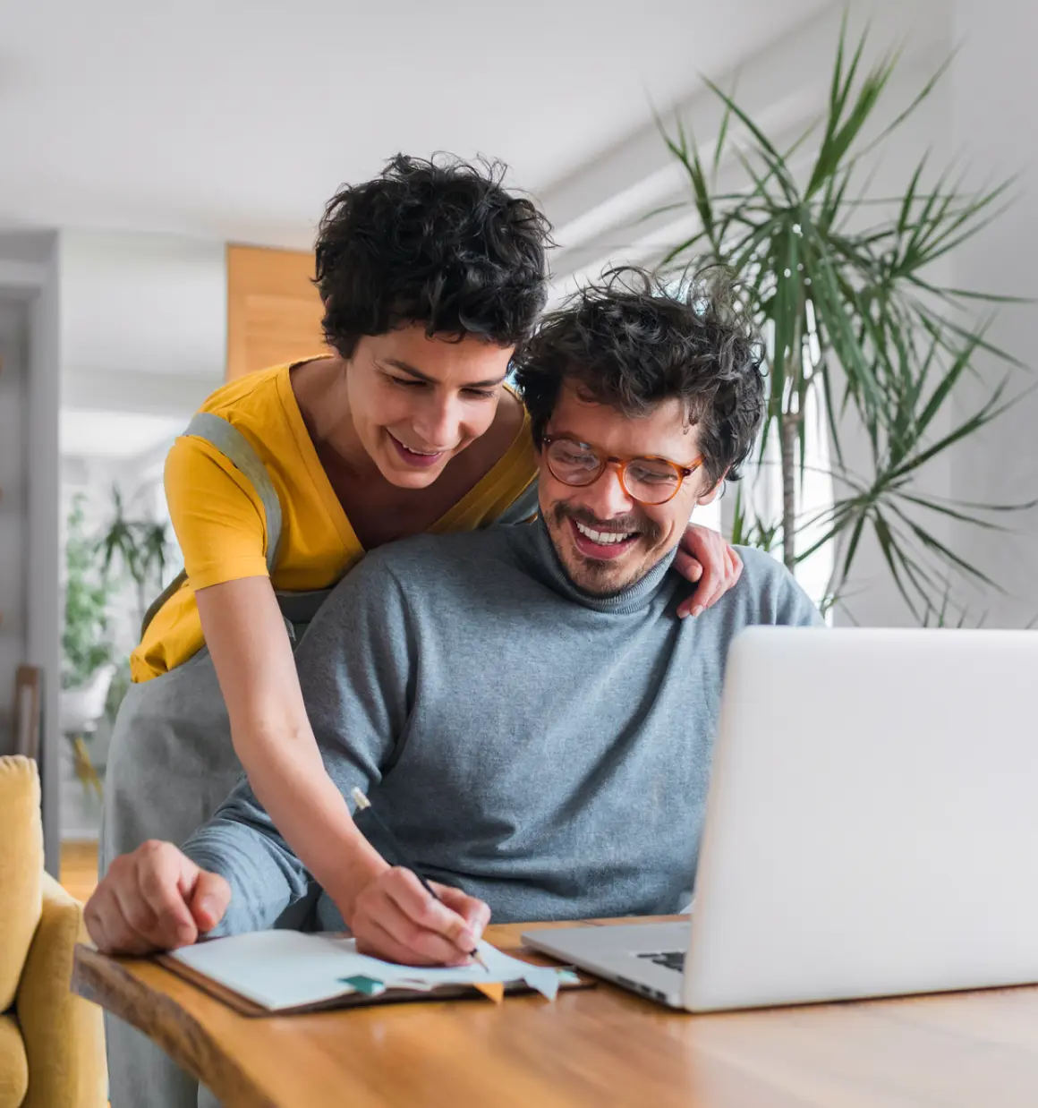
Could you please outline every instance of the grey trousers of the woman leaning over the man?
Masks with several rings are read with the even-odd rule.
[[[104,782],[100,876],[148,839],[187,840],[226,799],[241,765],[209,652],[133,685],[115,727]],[[105,1014],[112,1108],[196,1108],[216,1101],[151,1039]]]

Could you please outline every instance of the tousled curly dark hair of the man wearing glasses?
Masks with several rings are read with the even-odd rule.
[[[736,481],[764,416],[762,347],[719,270],[668,289],[625,266],[545,316],[515,359],[541,443],[564,381],[628,416],[677,397],[696,427],[711,484]]]

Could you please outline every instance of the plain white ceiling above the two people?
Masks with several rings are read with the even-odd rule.
[[[0,224],[307,247],[403,150],[552,186],[829,0],[0,0]],[[551,208],[549,208],[551,214]]]

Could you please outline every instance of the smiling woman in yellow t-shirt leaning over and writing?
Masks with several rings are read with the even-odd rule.
[[[292,639],[367,550],[536,511],[528,420],[505,376],[544,307],[547,232],[496,174],[459,163],[397,157],[329,203],[317,284],[335,353],[219,389],[169,453],[186,577],[132,657],[102,872],[145,840],[182,842],[244,766],[369,950],[414,927],[467,935],[450,891],[430,912],[384,884],[325,773]],[[682,572],[710,578],[688,602],[701,609],[740,565],[713,532],[692,527],[686,545]]]

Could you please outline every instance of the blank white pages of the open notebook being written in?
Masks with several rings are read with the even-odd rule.
[[[402,966],[357,953],[352,938],[298,931],[256,931],[173,951],[172,956],[249,1001],[278,1012],[357,992],[343,977],[370,977],[387,987],[428,991],[472,982],[525,982],[554,1001],[559,972],[532,966],[481,942],[480,965]]]

